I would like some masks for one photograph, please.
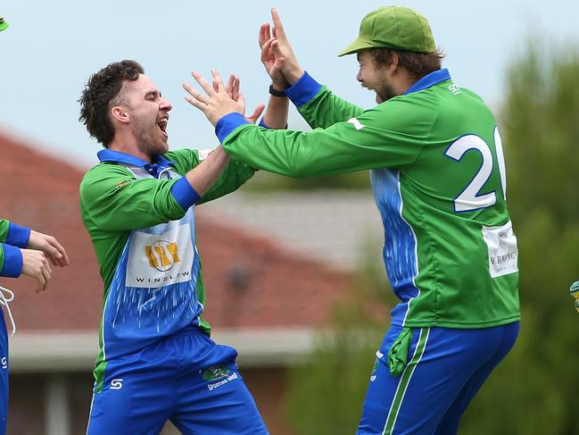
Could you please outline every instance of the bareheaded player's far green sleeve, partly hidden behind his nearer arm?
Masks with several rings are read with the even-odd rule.
[[[181,149],[171,151],[165,155],[170,161],[175,163],[175,171],[181,175],[191,171],[200,163],[199,151],[196,149]],[[205,192],[197,204],[203,204],[219,197],[224,197],[228,193],[241,187],[245,181],[252,178],[255,169],[238,160],[231,159],[227,163],[219,179]]]

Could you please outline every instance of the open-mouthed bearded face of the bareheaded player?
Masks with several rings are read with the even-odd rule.
[[[167,123],[172,106],[153,81],[140,74],[134,81],[125,81],[121,92],[139,149],[150,157],[169,151]]]

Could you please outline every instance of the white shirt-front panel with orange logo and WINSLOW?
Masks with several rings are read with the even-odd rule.
[[[188,224],[162,234],[136,230],[128,249],[128,287],[151,289],[192,279],[194,250]]]

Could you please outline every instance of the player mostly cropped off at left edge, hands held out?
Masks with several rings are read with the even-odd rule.
[[[8,29],[8,21],[0,16],[0,31]],[[0,276],[18,278],[27,275],[37,280],[37,293],[48,286],[54,266],[64,267],[69,258],[56,238],[0,219]],[[4,295],[5,293],[5,295]],[[6,297],[7,296],[7,297]],[[0,286],[0,305],[4,305],[12,322],[16,324],[8,305],[14,297],[9,289]],[[8,417],[8,332],[4,315],[0,315],[0,435],[6,432]]]

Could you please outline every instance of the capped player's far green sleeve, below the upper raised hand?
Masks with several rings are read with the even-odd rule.
[[[327,129],[336,122],[348,121],[359,116],[364,109],[343,100],[323,86],[316,96],[298,109],[298,112],[312,129]]]

